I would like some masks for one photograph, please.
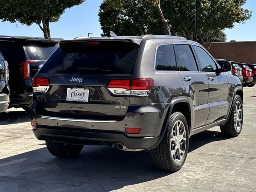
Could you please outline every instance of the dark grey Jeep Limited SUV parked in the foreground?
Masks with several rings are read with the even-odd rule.
[[[32,130],[57,157],[104,144],[150,150],[159,168],[177,171],[193,134],[240,134],[243,88],[230,70],[177,36],[64,40],[33,78]]]

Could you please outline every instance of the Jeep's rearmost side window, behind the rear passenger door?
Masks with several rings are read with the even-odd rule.
[[[156,50],[156,70],[176,71],[173,45],[160,45]]]

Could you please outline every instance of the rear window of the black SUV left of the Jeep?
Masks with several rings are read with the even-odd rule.
[[[48,57],[58,48],[58,46],[24,46],[24,48],[26,49],[29,60],[47,60]]]

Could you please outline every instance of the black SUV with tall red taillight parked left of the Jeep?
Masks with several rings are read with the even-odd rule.
[[[31,80],[40,66],[58,48],[57,41],[35,37],[0,36],[0,50],[9,63],[10,107],[29,112]]]

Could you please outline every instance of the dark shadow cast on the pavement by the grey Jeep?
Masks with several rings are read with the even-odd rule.
[[[220,132],[202,132],[191,137],[189,152],[224,139]],[[5,192],[112,191],[172,174],[156,168],[149,152],[106,146],[84,146],[76,158],[56,158],[40,148],[0,160],[0,170],[0,190]]]

